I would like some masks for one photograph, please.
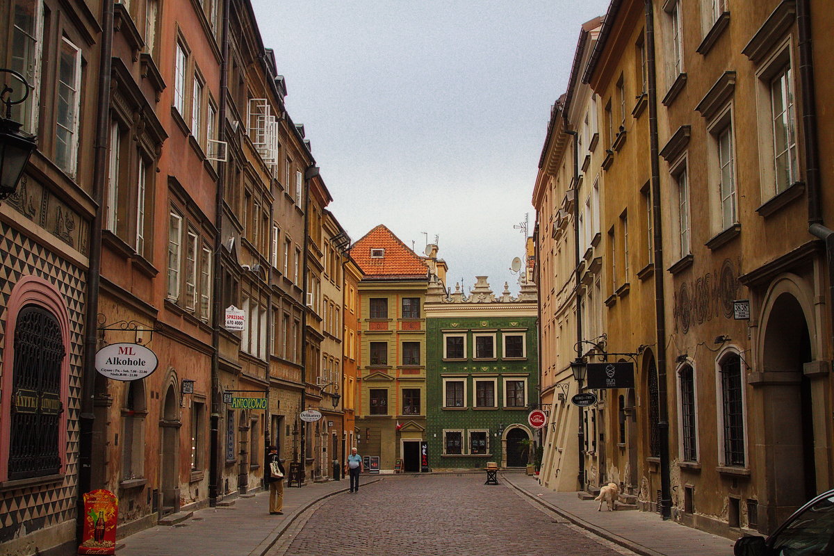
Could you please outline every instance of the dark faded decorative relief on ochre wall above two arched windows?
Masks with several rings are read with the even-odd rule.
[[[688,333],[693,325],[700,325],[723,316],[732,318],[732,302],[736,299],[741,273],[741,259],[734,264],[724,259],[721,268],[706,273],[694,281],[682,282],[676,289],[673,305],[675,328]]]

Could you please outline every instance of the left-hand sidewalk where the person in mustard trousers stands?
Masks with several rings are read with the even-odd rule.
[[[361,486],[379,481],[370,475]],[[157,525],[116,543],[118,556],[262,556],[290,523],[322,498],[347,492],[348,479],[284,488],[284,515],[269,515],[269,491],[233,506],[203,508],[173,527]]]

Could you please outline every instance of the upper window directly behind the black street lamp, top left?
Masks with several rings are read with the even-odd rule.
[[[25,103],[12,107],[12,119],[23,124],[28,133],[38,133],[38,99],[40,98],[41,49],[43,43],[43,3],[18,0],[14,3],[11,69],[32,85]],[[18,83],[14,82],[14,87]],[[3,113],[5,116],[5,113]]]

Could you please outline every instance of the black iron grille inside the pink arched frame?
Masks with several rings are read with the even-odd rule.
[[[61,362],[65,355],[58,320],[27,305],[14,332],[13,408],[8,478],[58,473]]]

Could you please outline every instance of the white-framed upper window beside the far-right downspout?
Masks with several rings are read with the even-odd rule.
[[[773,118],[773,166],[776,193],[799,181],[796,153],[796,113],[794,112],[791,67],[786,66],[771,79],[771,118]]]

